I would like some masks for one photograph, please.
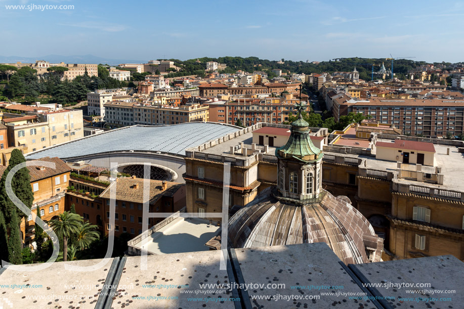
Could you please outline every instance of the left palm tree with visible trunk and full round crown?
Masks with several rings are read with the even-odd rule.
[[[82,221],[80,215],[69,211],[65,211],[57,219],[49,221],[49,226],[58,237],[63,237],[63,252],[68,252],[68,238],[79,231]],[[63,254],[64,261],[67,260],[67,257],[67,254]]]

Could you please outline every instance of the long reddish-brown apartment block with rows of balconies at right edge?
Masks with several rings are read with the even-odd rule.
[[[444,137],[464,132],[464,101],[458,100],[334,100],[335,121],[350,112],[370,115],[373,120],[393,123],[403,134]],[[340,111],[340,112],[338,112]]]

